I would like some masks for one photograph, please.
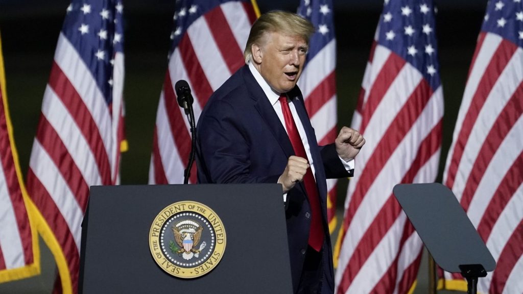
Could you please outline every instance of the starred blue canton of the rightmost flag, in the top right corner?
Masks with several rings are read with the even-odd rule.
[[[495,33],[523,47],[523,5],[521,0],[491,0],[481,30]]]

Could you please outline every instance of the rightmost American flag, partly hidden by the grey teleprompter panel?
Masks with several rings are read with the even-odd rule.
[[[523,5],[491,1],[447,157],[452,189],[496,260],[482,293],[523,293]],[[445,288],[467,289],[445,274]]]

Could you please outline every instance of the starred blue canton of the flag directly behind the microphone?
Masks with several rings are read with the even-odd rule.
[[[195,20],[227,2],[251,3],[251,0],[176,0],[176,11],[173,17],[174,30],[170,33],[170,39],[173,40],[173,42],[169,56],[176,47],[178,47],[178,43],[185,35],[187,28],[190,27]],[[241,49],[243,50],[244,48]]]

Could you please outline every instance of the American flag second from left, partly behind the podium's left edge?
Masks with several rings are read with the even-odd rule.
[[[33,142],[27,189],[47,221],[42,237],[64,292],[78,288],[89,187],[119,182],[122,11],[118,0],[74,0],[67,7]]]

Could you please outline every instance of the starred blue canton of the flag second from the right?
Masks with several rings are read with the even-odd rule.
[[[385,0],[378,25],[378,43],[412,64],[433,91],[441,85],[430,0]]]

